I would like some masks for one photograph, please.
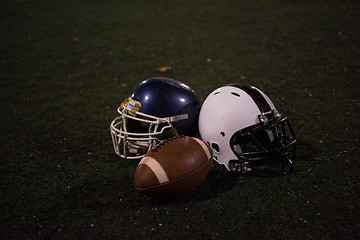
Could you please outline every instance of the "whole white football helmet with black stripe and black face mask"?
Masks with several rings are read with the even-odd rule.
[[[296,138],[286,117],[256,87],[235,83],[214,90],[199,115],[202,139],[229,171],[290,174]]]

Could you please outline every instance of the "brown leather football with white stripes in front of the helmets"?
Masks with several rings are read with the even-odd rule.
[[[176,136],[157,144],[140,161],[135,189],[159,198],[171,198],[196,189],[212,165],[212,149],[194,137]]]

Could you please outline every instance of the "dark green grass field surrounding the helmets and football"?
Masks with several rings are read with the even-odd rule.
[[[2,1],[0,239],[360,239],[359,22],[355,0]],[[294,174],[214,163],[188,195],[139,195],[109,124],[153,76],[201,101],[262,89],[296,132]]]

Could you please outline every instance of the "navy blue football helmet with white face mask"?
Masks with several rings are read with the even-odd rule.
[[[137,85],[110,124],[115,153],[139,159],[163,139],[197,136],[200,112],[194,90],[169,78],[150,78]]]

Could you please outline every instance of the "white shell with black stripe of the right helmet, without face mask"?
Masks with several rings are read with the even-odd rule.
[[[238,159],[230,146],[231,137],[258,124],[258,116],[273,109],[270,98],[250,85],[230,84],[211,92],[200,110],[199,132],[214,150],[215,161],[229,170],[228,162]]]

